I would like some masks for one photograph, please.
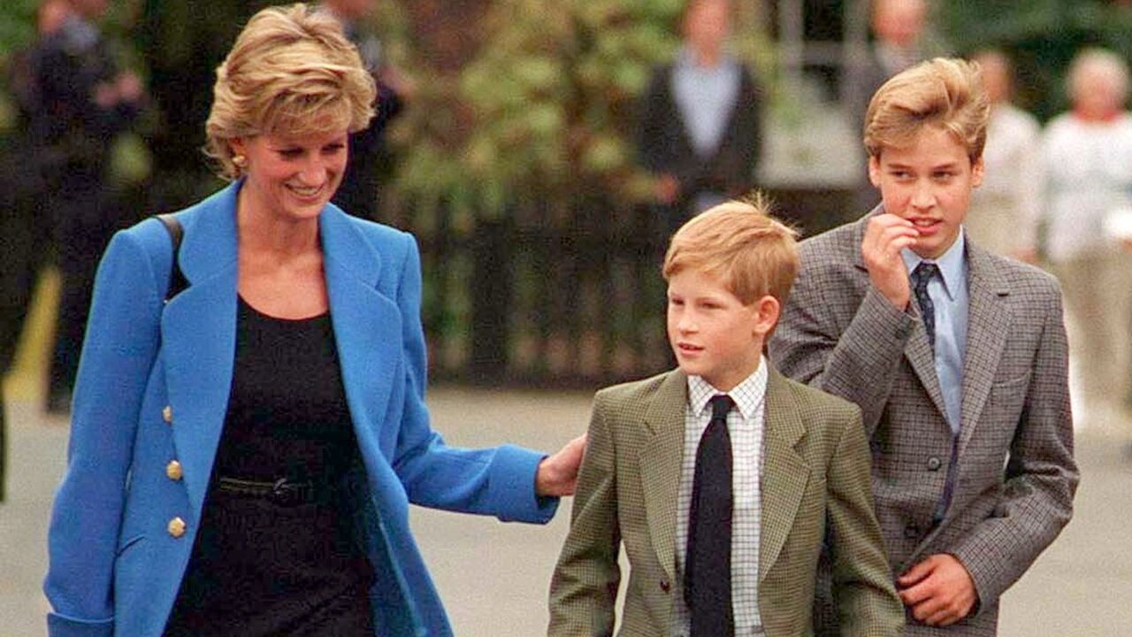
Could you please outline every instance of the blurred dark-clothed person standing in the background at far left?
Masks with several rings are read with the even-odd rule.
[[[31,121],[59,246],[62,292],[49,375],[48,410],[66,413],[78,370],[98,255],[115,230],[105,205],[111,143],[137,117],[142,82],[119,70],[95,25],[108,0],[70,0],[46,36],[36,69],[42,108]]]

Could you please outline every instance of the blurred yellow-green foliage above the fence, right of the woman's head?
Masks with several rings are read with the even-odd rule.
[[[457,77],[430,79],[398,125],[406,193],[500,212],[580,189],[651,192],[632,131],[652,68],[679,44],[684,0],[496,0]],[[737,39],[749,44],[756,39]],[[757,48],[740,46],[751,58]],[[418,69],[428,74],[428,69]],[[422,83],[423,84],[423,83]]]

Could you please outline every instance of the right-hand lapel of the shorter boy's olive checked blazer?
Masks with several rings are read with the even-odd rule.
[[[795,450],[806,433],[798,417],[786,380],[773,368],[767,370],[766,401],[763,417],[762,498],[758,524],[758,580],[766,578],[782,552],[798,506],[806,492],[809,466]]]

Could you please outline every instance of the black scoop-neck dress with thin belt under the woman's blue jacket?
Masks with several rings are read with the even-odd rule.
[[[224,432],[165,635],[372,637],[331,317],[275,318],[242,298],[238,312]]]

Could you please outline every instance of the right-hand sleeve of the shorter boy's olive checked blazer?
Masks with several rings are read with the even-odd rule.
[[[833,598],[841,635],[901,634],[904,609],[892,586],[873,507],[868,444],[860,413],[844,418],[826,470]]]

